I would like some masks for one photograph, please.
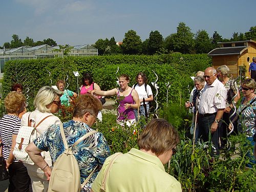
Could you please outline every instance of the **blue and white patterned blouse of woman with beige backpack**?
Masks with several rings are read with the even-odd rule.
[[[81,136],[93,131],[86,123],[73,120],[63,123],[63,129],[69,147]],[[51,125],[44,134],[34,140],[34,143],[40,150],[49,151],[53,162],[65,151],[59,125]],[[101,168],[105,159],[110,156],[110,149],[103,134],[97,132],[76,145],[73,148],[73,154],[80,169],[81,183],[83,183],[97,165],[99,169]],[[82,191],[90,191],[99,169],[95,171]]]

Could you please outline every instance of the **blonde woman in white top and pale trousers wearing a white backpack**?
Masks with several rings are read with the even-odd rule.
[[[52,124],[60,124],[61,121],[53,114],[58,112],[61,105],[60,96],[62,91],[53,89],[52,87],[45,86],[39,89],[37,92],[34,105],[35,111],[27,112],[22,117],[22,125],[28,126],[28,120],[32,120],[31,125],[37,125],[43,120],[36,128],[37,137],[48,130],[48,127]],[[52,166],[52,160],[49,152],[42,152],[42,156],[45,156],[45,161],[49,166]],[[28,169],[28,174],[32,182],[32,189],[34,192],[48,191],[49,181],[44,172],[36,165],[24,164]]]

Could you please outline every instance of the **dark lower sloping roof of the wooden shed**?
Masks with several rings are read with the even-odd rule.
[[[211,50],[208,53],[208,56],[217,56],[217,55],[240,55],[249,47],[242,46],[242,47],[225,47],[225,48],[216,48]]]

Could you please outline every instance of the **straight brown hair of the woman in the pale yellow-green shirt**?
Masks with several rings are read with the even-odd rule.
[[[180,137],[173,125],[164,119],[151,120],[142,131],[138,145],[140,149],[151,151],[157,156],[172,150]]]

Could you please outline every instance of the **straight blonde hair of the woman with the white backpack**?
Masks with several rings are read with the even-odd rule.
[[[35,108],[37,108],[42,113],[50,113],[51,110],[48,109],[46,106],[48,104],[51,104],[52,101],[57,97],[61,96],[63,93],[62,91],[53,89],[50,86],[45,86],[39,89],[37,92],[35,99],[34,99],[34,105]]]

